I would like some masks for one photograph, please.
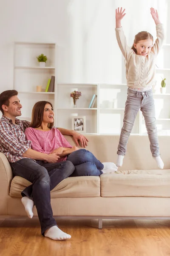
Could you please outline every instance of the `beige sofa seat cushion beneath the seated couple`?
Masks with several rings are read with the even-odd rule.
[[[28,180],[15,176],[11,182],[10,196],[22,197],[21,192],[31,185]],[[100,177],[81,176],[68,177],[62,180],[53,190],[51,198],[81,198],[100,196]]]

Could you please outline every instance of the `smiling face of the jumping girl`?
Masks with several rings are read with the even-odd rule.
[[[137,51],[136,54],[146,57],[151,51],[152,44],[152,39],[141,40],[137,44],[134,44],[134,47],[136,48]]]

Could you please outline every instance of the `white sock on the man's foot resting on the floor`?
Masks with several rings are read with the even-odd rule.
[[[53,226],[53,227],[50,227],[48,230],[45,230],[44,236],[51,238],[53,240],[66,240],[71,238],[70,235],[68,235],[67,233],[64,233],[57,226]]]

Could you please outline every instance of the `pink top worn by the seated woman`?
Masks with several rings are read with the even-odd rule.
[[[50,131],[40,131],[32,127],[26,128],[26,140],[31,140],[31,148],[45,154],[50,154],[59,147],[72,148],[70,143],[53,127]],[[67,157],[61,157],[57,162],[66,160]]]

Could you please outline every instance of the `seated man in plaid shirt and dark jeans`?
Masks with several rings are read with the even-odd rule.
[[[29,218],[33,217],[34,204],[37,208],[42,235],[53,240],[70,239],[71,236],[57,227],[51,208],[50,191],[74,172],[70,161],[57,163],[59,156],[44,154],[31,149],[31,141],[26,141],[24,131],[30,123],[16,119],[21,116],[20,100],[16,90],[6,90],[0,94],[0,151],[11,165],[13,175],[29,180],[32,185],[23,190],[21,199]],[[78,145],[87,145],[87,139],[75,131],[59,128],[63,135],[72,135]]]

